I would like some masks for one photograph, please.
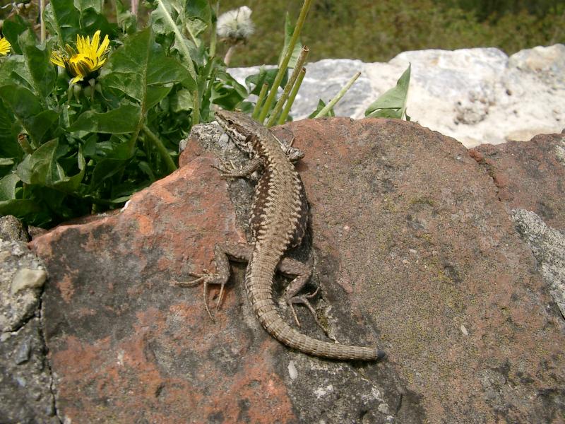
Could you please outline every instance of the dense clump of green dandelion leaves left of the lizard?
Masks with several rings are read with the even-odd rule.
[[[155,0],[148,25],[118,0],[52,0],[41,44],[28,20],[4,21],[0,59],[0,213],[52,226],[115,208],[176,169],[178,143],[212,105],[249,110],[249,90],[210,56],[208,1]],[[77,35],[108,35],[100,69],[76,84],[49,59]],[[103,59],[103,57],[100,57]],[[76,75],[75,75],[76,76]]]

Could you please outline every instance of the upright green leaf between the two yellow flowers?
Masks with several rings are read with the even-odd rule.
[[[31,76],[33,90],[40,98],[46,98],[51,94],[57,73],[49,62],[47,49],[37,47],[35,33],[28,30],[20,34],[18,43],[23,51],[25,66]]]

